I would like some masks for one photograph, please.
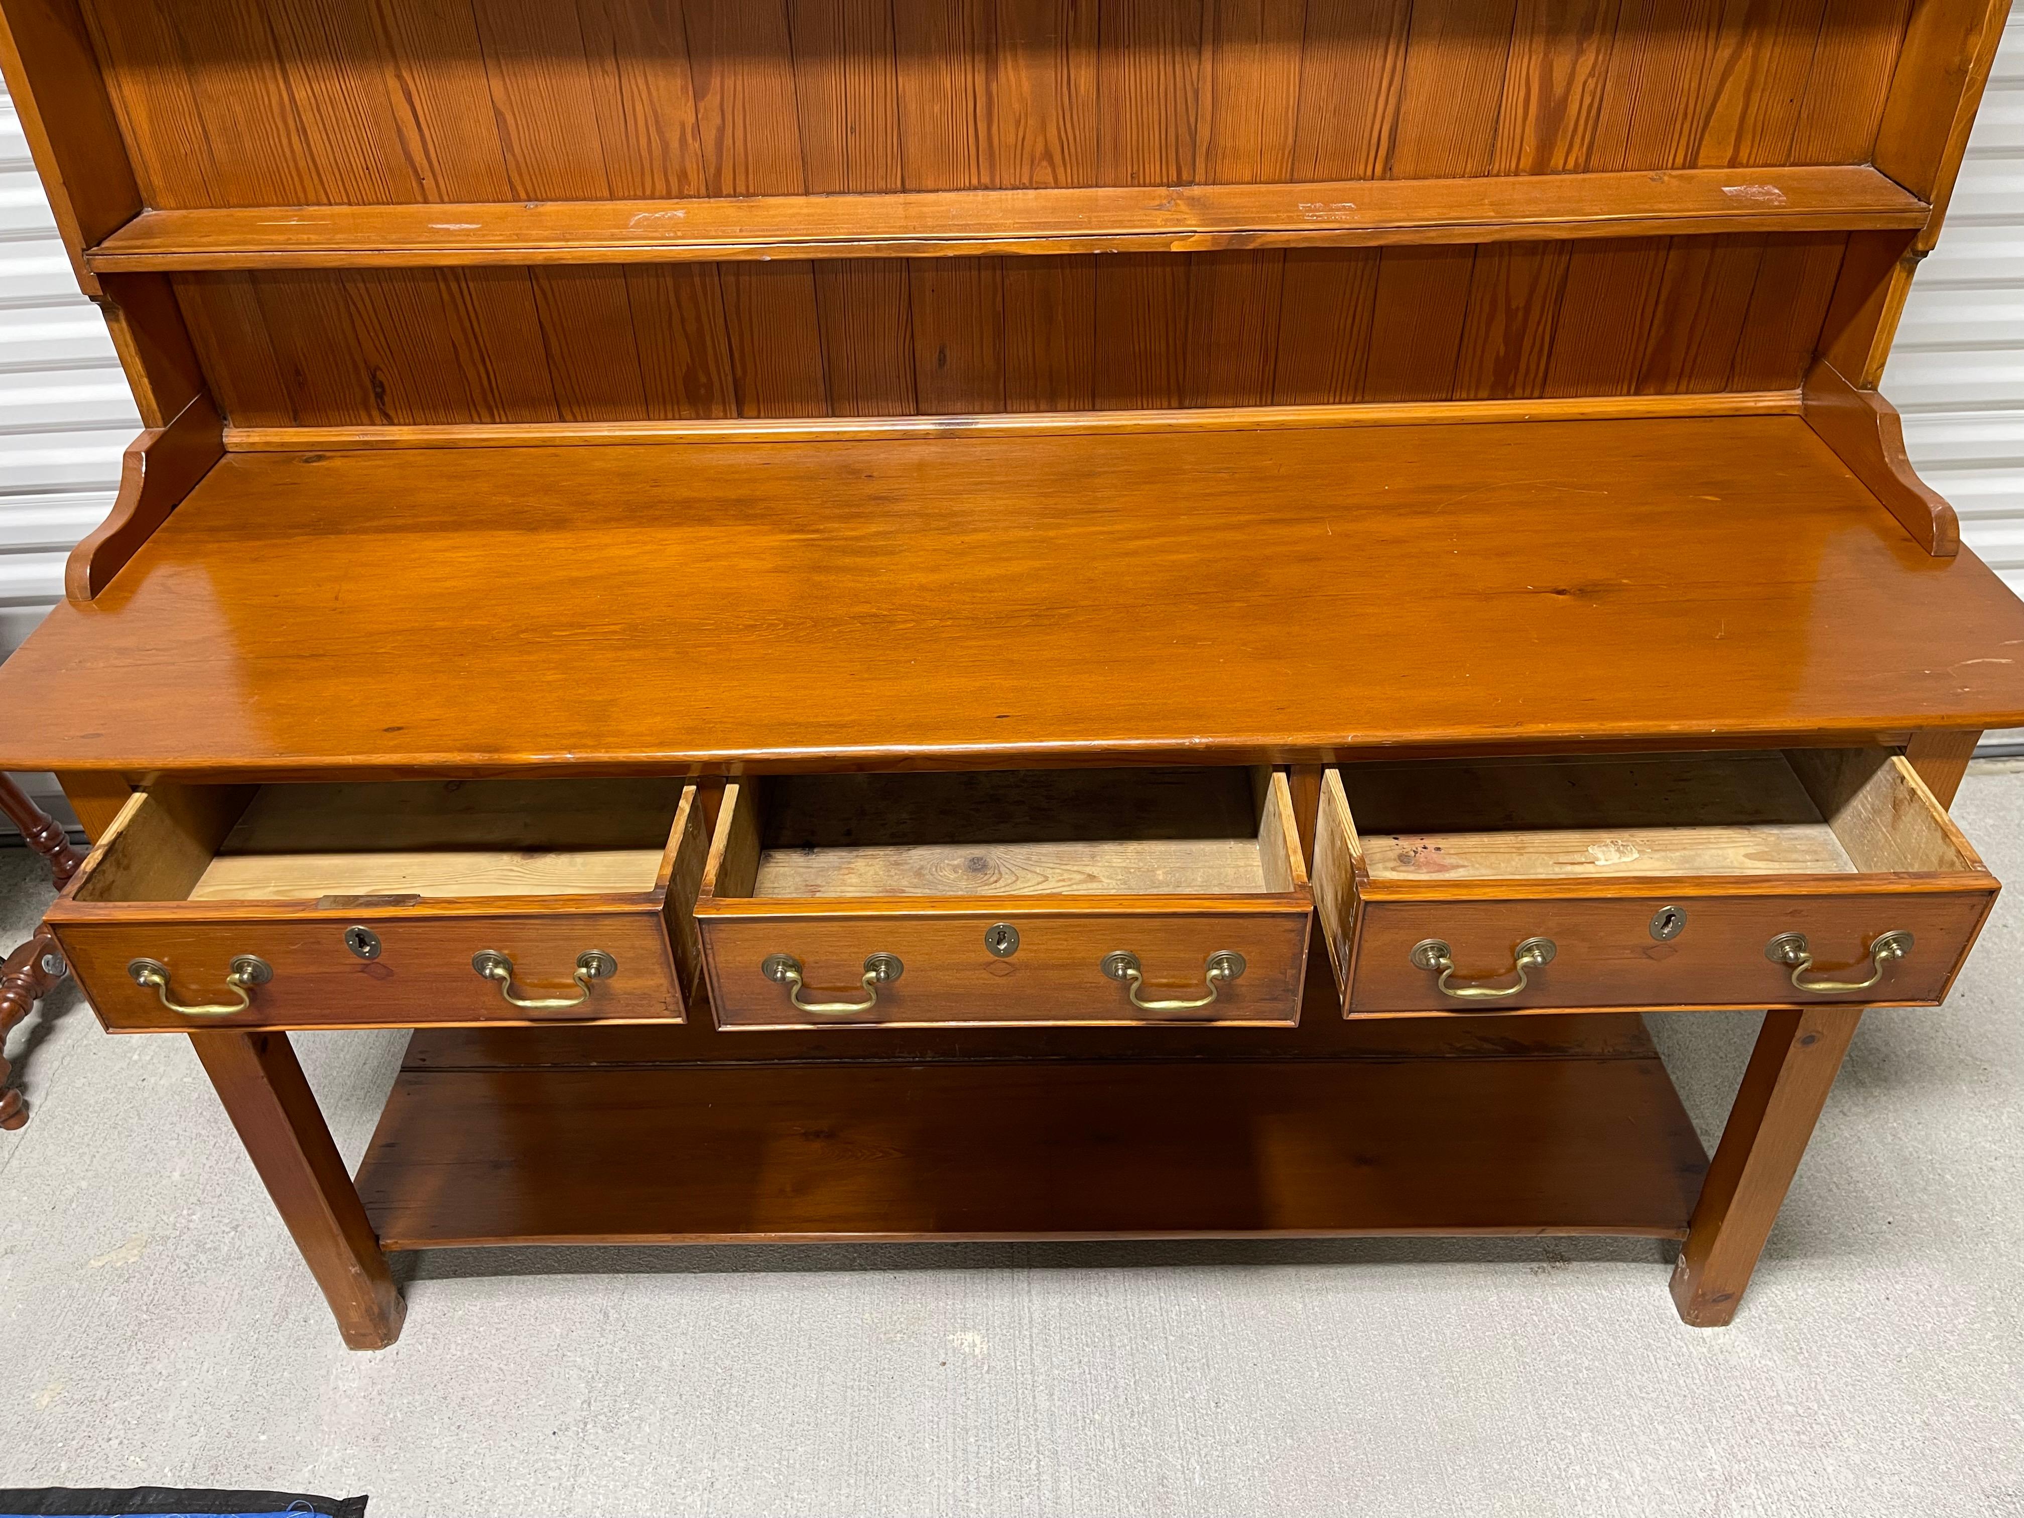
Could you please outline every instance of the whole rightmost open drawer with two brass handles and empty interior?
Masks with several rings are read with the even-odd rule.
[[[1350,1014],[1929,1006],[1996,891],[1882,749],[1330,769],[1314,852]]]

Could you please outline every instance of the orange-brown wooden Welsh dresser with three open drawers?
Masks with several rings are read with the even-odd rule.
[[[1996,901],[2024,605],[1876,383],[2004,10],[0,0],[148,427],[0,670],[63,953],[360,1348],[492,1243],[1724,1324]],[[1639,1012],[1737,1008],[1710,1162]],[[350,1176],[287,1034],[389,1026]]]

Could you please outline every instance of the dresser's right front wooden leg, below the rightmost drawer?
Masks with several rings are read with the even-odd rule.
[[[1860,1020],[1860,1006],[1765,1014],[1672,1271],[1674,1305],[1694,1328],[1737,1316]]]

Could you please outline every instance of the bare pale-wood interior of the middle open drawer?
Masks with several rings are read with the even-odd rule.
[[[1271,769],[1016,769],[747,779],[712,895],[1050,897],[1293,891]]]

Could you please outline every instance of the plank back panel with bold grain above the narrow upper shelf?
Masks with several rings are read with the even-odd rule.
[[[1909,4],[91,0],[150,206],[1868,162]]]

